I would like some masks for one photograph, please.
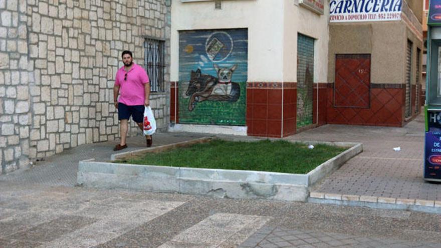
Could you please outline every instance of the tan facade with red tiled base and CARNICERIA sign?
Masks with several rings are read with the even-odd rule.
[[[343,2],[330,2],[326,123],[401,127],[420,112],[422,2]]]

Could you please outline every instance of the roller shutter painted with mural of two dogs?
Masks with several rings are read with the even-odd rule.
[[[179,32],[179,122],[246,125],[248,30]]]

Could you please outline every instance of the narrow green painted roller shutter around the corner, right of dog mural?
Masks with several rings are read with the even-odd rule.
[[[312,124],[314,39],[297,36],[297,129]]]

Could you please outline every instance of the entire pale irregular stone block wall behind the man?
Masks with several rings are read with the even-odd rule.
[[[169,11],[164,0],[0,0],[2,173],[117,139],[113,84],[121,52],[131,50],[143,65],[144,39],[165,40],[168,65]],[[168,66],[165,82],[165,92],[150,97],[159,132],[169,120]]]

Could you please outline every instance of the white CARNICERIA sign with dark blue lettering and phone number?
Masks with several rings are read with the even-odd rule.
[[[402,0],[331,0],[331,23],[401,20]]]

